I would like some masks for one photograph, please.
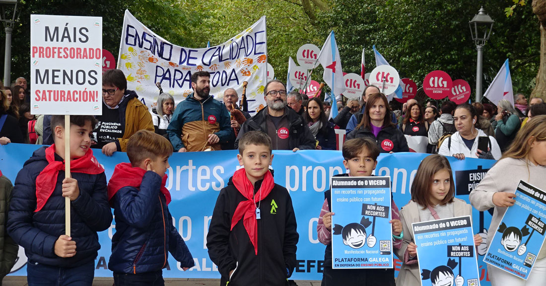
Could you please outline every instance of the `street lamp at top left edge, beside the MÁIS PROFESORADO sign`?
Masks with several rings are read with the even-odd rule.
[[[5,28],[5,53],[4,53],[4,85],[11,84],[11,32],[13,32],[13,24],[19,20],[16,15],[17,4],[19,0],[0,0],[2,14],[0,21],[4,23]]]

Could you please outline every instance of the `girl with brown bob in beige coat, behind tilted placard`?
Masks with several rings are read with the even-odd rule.
[[[472,216],[472,206],[454,195],[453,172],[447,158],[435,154],[423,159],[411,186],[411,201],[400,210],[404,237],[397,251],[402,260],[397,286],[421,285],[412,223]],[[482,237],[475,235],[474,244],[481,242]]]

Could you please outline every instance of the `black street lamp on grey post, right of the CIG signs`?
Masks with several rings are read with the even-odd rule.
[[[472,34],[472,40],[476,44],[476,50],[478,51],[478,62],[476,64],[476,102],[482,100],[482,57],[483,46],[489,39],[491,31],[493,29],[493,21],[489,15],[485,14],[483,7],[479,9],[478,14],[474,15],[472,20],[468,22],[470,25],[470,33]]]

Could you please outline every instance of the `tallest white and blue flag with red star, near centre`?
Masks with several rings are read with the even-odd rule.
[[[328,38],[324,42],[322,50],[318,55],[318,61],[324,68],[324,75],[322,78],[331,89],[330,101],[332,110],[330,112],[330,117],[334,118],[337,116],[337,100],[340,100],[341,94],[345,92],[340,52],[337,49],[334,31],[330,32],[330,35],[328,35]],[[326,99],[324,100],[326,101]]]

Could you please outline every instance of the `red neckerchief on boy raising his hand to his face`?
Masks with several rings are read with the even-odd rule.
[[[142,183],[142,177],[146,170],[138,167],[131,166],[130,163],[120,163],[114,168],[114,174],[108,182],[108,201],[114,198],[114,195],[123,187],[135,187],[140,188]],[[170,193],[167,188],[165,188],[165,183],[167,183],[167,174],[163,176],[161,182],[161,193],[165,196],[167,205],[171,201]],[[111,202],[110,202],[111,203]]]

